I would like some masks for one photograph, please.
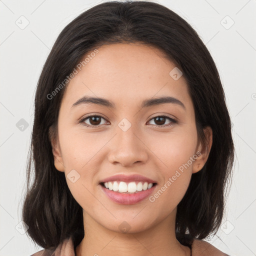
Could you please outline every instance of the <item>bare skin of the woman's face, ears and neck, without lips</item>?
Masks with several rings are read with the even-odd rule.
[[[76,254],[190,255],[190,249],[175,238],[176,207],[192,173],[207,160],[212,130],[204,130],[208,150],[203,150],[186,80],[169,75],[175,64],[160,50],[139,43],[103,45],[98,50],[68,84],[59,111],[58,136],[51,141],[56,169],[65,176],[72,169],[80,175],[74,183],[66,177],[83,209],[85,235]],[[116,108],[91,103],[72,107],[84,95],[109,99]],[[142,100],[158,96],[175,97],[185,109],[173,103],[140,107]],[[103,116],[96,123],[100,126],[93,127],[90,118],[84,122],[91,127],[78,123],[87,114]],[[162,114],[178,122],[166,126],[171,123],[168,118],[162,122],[153,118]],[[118,126],[123,118],[131,124],[126,131]],[[156,192],[197,151],[201,155],[154,202],[146,198],[136,204],[117,204],[100,189],[103,178],[138,173],[156,180]],[[118,228],[123,221],[130,226],[126,233]]]

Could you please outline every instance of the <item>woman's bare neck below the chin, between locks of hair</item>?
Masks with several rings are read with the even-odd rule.
[[[84,237],[75,248],[76,255],[189,256],[189,247],[175,237],[175,213],[143,231],[125,233],[105,228],[83,210]]]

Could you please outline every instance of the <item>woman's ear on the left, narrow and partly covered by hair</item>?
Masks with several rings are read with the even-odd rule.
[[[61,157],[61,150],[58,142],[59,141],[58,135],[56,134],[57,132],[55,132],[54,130],[55,129],[52,126],[50,126],[49,139],[52,147],[52,154],[54,157],[54,166],[57,170],[64,172],[64,164]]]

